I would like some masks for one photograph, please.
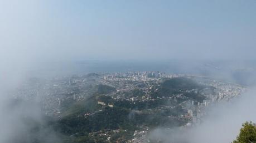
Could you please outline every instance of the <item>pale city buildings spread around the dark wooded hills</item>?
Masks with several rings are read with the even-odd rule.
[[[95,93],[95,85],[104,84],[114,87],[116,90],[105,94],[111,96],[113,100],[127,100],[133,104],[145,101],[165,100],[176,101],[177,99],[186,99],[183,94],[176,94],[173,96],[157,96],[152,98],[150,92],[152,89],[157,90],[157,86],[160,85],[160,81],[163,78],[176,78],[180,76],[186,76],[197,81],[197,83],[211,86],[214,88],[214,92],[208,90],[191,89],[186,90],[186,93],[201,94],[206,97],[202,102],[196,102],[194,100],[185,100],[178,106],[182,106],[187,110],[187,113],[180,114],[177,118],[188,120],[189,124],[200,124],[201,117],[204,116],[205,108],[215,102],[223,100],[230,100],[235,96],[243,93],[246,88],[240,85],[224,83],[208,78],[201,78],[198,76],[190,76],[183,74],[166,74],[163,72],[128,72],[128,73],[96,73],[90,76],[88,75],[74,75],[56,77],[46,80],[33,80],[21,86],[14,94],[15,98],[23,98],[26,100],[39,100],[42,104],[42,108],[48,115],[59,115],[61,108],[64,104],[69,104],[70,101],[83,100],[86,97]],[[139,89],[142,95],[134,95],[133,90]],[[102,101],[98,101],[99,105],[109,106],[113,108],[113,104],[107,104]],[[167,108],[175,108],[170,106]],[[161,109],[160,109],[161,110]],[[93,113],[85,114],[84,116],[90,116]],[[134,139],[132,142],[139,142],[147,135],[147,130],[134,132]],[[103,134],[103,133],[102,133]],[[141,137],[141,139],[140,139]],[[110,140],[110,138],[108,138]]]

